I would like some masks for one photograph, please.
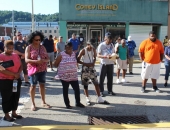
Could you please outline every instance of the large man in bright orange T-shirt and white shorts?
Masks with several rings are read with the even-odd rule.
[[[139,57],[142,62],[142,89],[141,92],[145,92],[146,82],[148,78],[151,78],[153,84],[153,90],[160,92],[156,86],[156,81],[160,76],[160,66],[163,60],[164,48],[160,40],[156,38],[155,32],[149,33],[149,38],[142,41],[139,46]]]

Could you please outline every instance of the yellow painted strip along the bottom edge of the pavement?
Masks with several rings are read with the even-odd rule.
[[[1,127],[0,130],[113,130],[113,129],[148,129],[170,128],[170,122],[150,124],[121,124],[121,125],[45,125]]]

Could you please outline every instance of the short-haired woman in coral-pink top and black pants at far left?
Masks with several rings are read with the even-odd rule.
[[[7,40],[4,44],[4,52],[0,54],[1,62],[12,60],[14,63],[14,66],[6,69],[2,68],[0,71],[0,92],[2,96],[2,109],[5,113],[3,119],[9,122],[15,121],[14,118],[22,118],[22,116],[16,114],[21,89],[20,73],[22,71],[22,65],[19,56],[13,53],[13,50],[13,41]],[[15,91],[14,83],[16,85]],[[12,111],[12,116],[9,115],[10,111]]]

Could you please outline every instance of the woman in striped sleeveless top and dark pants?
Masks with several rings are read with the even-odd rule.
[[[54,65],[58,67],[58,76],[63,85],[63,97],[67,109],[72,109],[68,98],[68,88],[71,84],[75,92],[76,106],[83,108],[84,105],[80,103],[80,88],[78,83],[77,73],[77,59],[76,54],[73,52],[72,43],[68,42],[65,45],[65,51],[62,51]]]

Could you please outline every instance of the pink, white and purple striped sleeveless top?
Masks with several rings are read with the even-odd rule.
[[[78,80],[77,60],[75,53],[73,52],[70,56],[63,51],[60,54],[62,56],[62,60],[58,66],[59,78],[67,82]]]

